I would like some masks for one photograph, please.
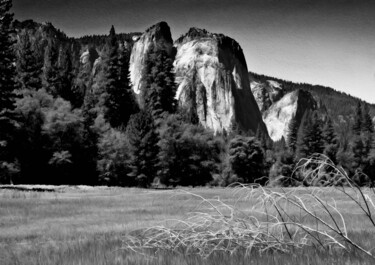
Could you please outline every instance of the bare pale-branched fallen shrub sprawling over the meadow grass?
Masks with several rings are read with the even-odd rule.
[[[217,252],[290,253],[312,247],[322,251],[356,249],[374,257],[349,237],[343,209],[333,197],[324,196],[330,192],[347,196],[375,228],[374,191],[358,187],[324,155],[300,161],[296,170],[304,186],[270,189],[236,184],[231,186],[236,198],[232,204],[181,191],[200,200],[195,212],[175,220],[171,227],[155,226],[132,233],[123,240],[123,248],[209,257]],[[311,187],[313,184],[320,187]]]

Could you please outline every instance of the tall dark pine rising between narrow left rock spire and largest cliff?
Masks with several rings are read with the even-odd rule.
[[[162,112],[174,113],[177,102],[172,59],[165,50],[152,46],[145,64],[145,108],[154,118]]]

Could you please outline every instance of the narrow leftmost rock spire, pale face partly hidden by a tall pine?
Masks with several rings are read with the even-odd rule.
[[[141,91],[144,89],[145,62],[152,45],[164,49],[173,56],[173,40],[171,31],[166,22],[160,22],[145,31],[142,36],[134,37],[135,41],[130,56],[129,70],[132,88],[140,104],[142,104]]]

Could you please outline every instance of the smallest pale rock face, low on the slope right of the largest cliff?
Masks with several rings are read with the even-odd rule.
[[[282,137],[287,141],[290,121],[296,117],[297,124],[301,123],[306,110],[316,110],[317,102],[313,96],[304,90],[296,90],[285,94],[263,112],[263,120],[273,141]]]

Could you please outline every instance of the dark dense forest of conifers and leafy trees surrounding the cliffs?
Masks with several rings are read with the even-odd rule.
[[[139,33],[116,34],[112,26],[109,35],[74,39],[51,23],[14,21],[10,8],[10,0],[0,3],[0,183],[300,185],[293,169],[314,153],[361,185],[375,180],[373,106],[305,84],[324,94],[322,104],[337,104],[328,116],[306,111],[300,126],[292,121],[287,141],[236,128],[214,135],[178,107],[173,58],[158,47],[147,55],[139,107],[129,81]],[[341,131],[340,115],[348,118]]]

